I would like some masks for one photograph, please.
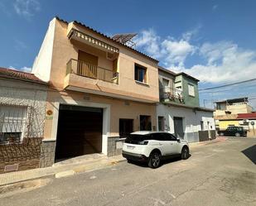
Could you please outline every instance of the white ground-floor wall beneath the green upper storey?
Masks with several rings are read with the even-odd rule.
[[[196,138],[198,138],[193,133],[201,130],[200,121],[204,122],[205,130],[208,130],[207,122],[209,122],[209,129],[215,130],[215,121],[212,112],[193,111],[191,108],[173,107],[159,103],[157,105],[157,117],[158,116],[165,118],[165,131],[171,133],[174,133],[173,117],[182,117],[185,139],[191,138],[191,141],[196,141]]]

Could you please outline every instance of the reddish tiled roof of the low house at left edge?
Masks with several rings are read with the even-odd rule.
[[[17,79],[17,80],[36,83],[36,84],[48,84],[42,81],[41,79],[37,78],[35,74],[22,72],[15,69],[2,68],[2,67],[0,67],[0,77],[6,78],[6,79]]]

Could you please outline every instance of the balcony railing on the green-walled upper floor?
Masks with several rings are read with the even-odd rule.
[[[183,98],[183,92],[179,89],[174,89],[171,87],[160,88],[160,98],[162,101],[185,103]]]

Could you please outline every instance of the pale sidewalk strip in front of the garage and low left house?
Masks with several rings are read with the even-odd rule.
[[[123,156],[104,156],[101,154],[93,154],[86,156],[78,156],[70,160],[57,162],[51,167],[36,168],[33,170],[23,170],[0,175],[0,187],[7,184],[15,184],[22,181],[34,180],[47,176],[55,176],[57,178],[68,175],[75,175],[81,172],[91,170],[99,170],[104,167],[115,165],[125,160]]]

